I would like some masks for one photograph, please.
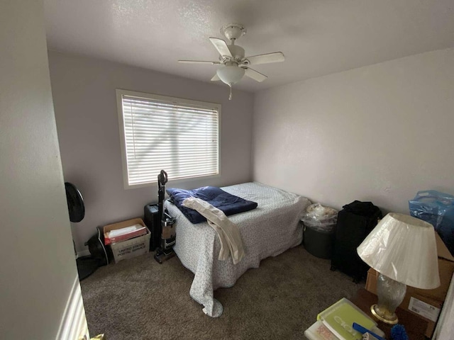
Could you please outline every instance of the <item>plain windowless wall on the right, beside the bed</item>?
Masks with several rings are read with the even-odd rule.
[[[255,96],[253,177],[333,208],[409,213],[417,191],[454,194],[454,49]]]

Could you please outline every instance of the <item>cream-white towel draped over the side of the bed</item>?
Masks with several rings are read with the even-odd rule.
[[[222,210],[215,208],[210,203],[200,198],[190,197],[183,201],[184,207],[196,210],[200,215],[206,217],[206,221],[218,234],[221,242],[221,250],[218,259],[226,261],[232,256],[233,264],[241,261],[244,257],[243,241],[241,240],[238,226],[228,220]]]

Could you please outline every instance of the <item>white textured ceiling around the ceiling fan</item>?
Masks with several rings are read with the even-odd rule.
[[[202,81],[216,66],[177,60],[217,60],[208,38],[242,23],[246,55],[286,57],[247,91],[454,47],[453,0],[45,0],[45,18],[50,50]]]

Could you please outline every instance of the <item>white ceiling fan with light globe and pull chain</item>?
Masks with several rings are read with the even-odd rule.
[[[190,64],[211,64],[211,65],[223,65],[219,67],[212,81],[221,80],[230,87],[229,100],[232,98],[232,85],[236,84],[245,75],[255,81],[264,81],[267,79],[265,74],[251,69],[250,65],[268,64],[270,62],[283,62],[284,54],[282,52],[267,53],[265,55],[253,55],[245,57],[243,47],[235,45],[235,41],[242,35],[246,34],[246,29],[240,23],[228,23],[221,27],[221,33],[230,40],[231,44],[227,43],[223,39],[209,38],[213,43],[216,50],[219,52],[219,61],[209,62],[203,60],[178,60],[178,62],[190,63]]]

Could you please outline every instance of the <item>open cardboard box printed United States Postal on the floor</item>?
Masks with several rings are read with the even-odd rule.
[[[106,225],[103,227],[103,232],[110,232],[111,230],[130,227],[131,225],[143,225],[145,223],[141,218],[134,218],[123,222]],[[131,259],[135,256],[147,254],[150,249],[150,230],[147,228],[145,235],[128,239],[122,242],[111,244],[112,254],[114,255],[114,262],[118,263],[121,260]]]

